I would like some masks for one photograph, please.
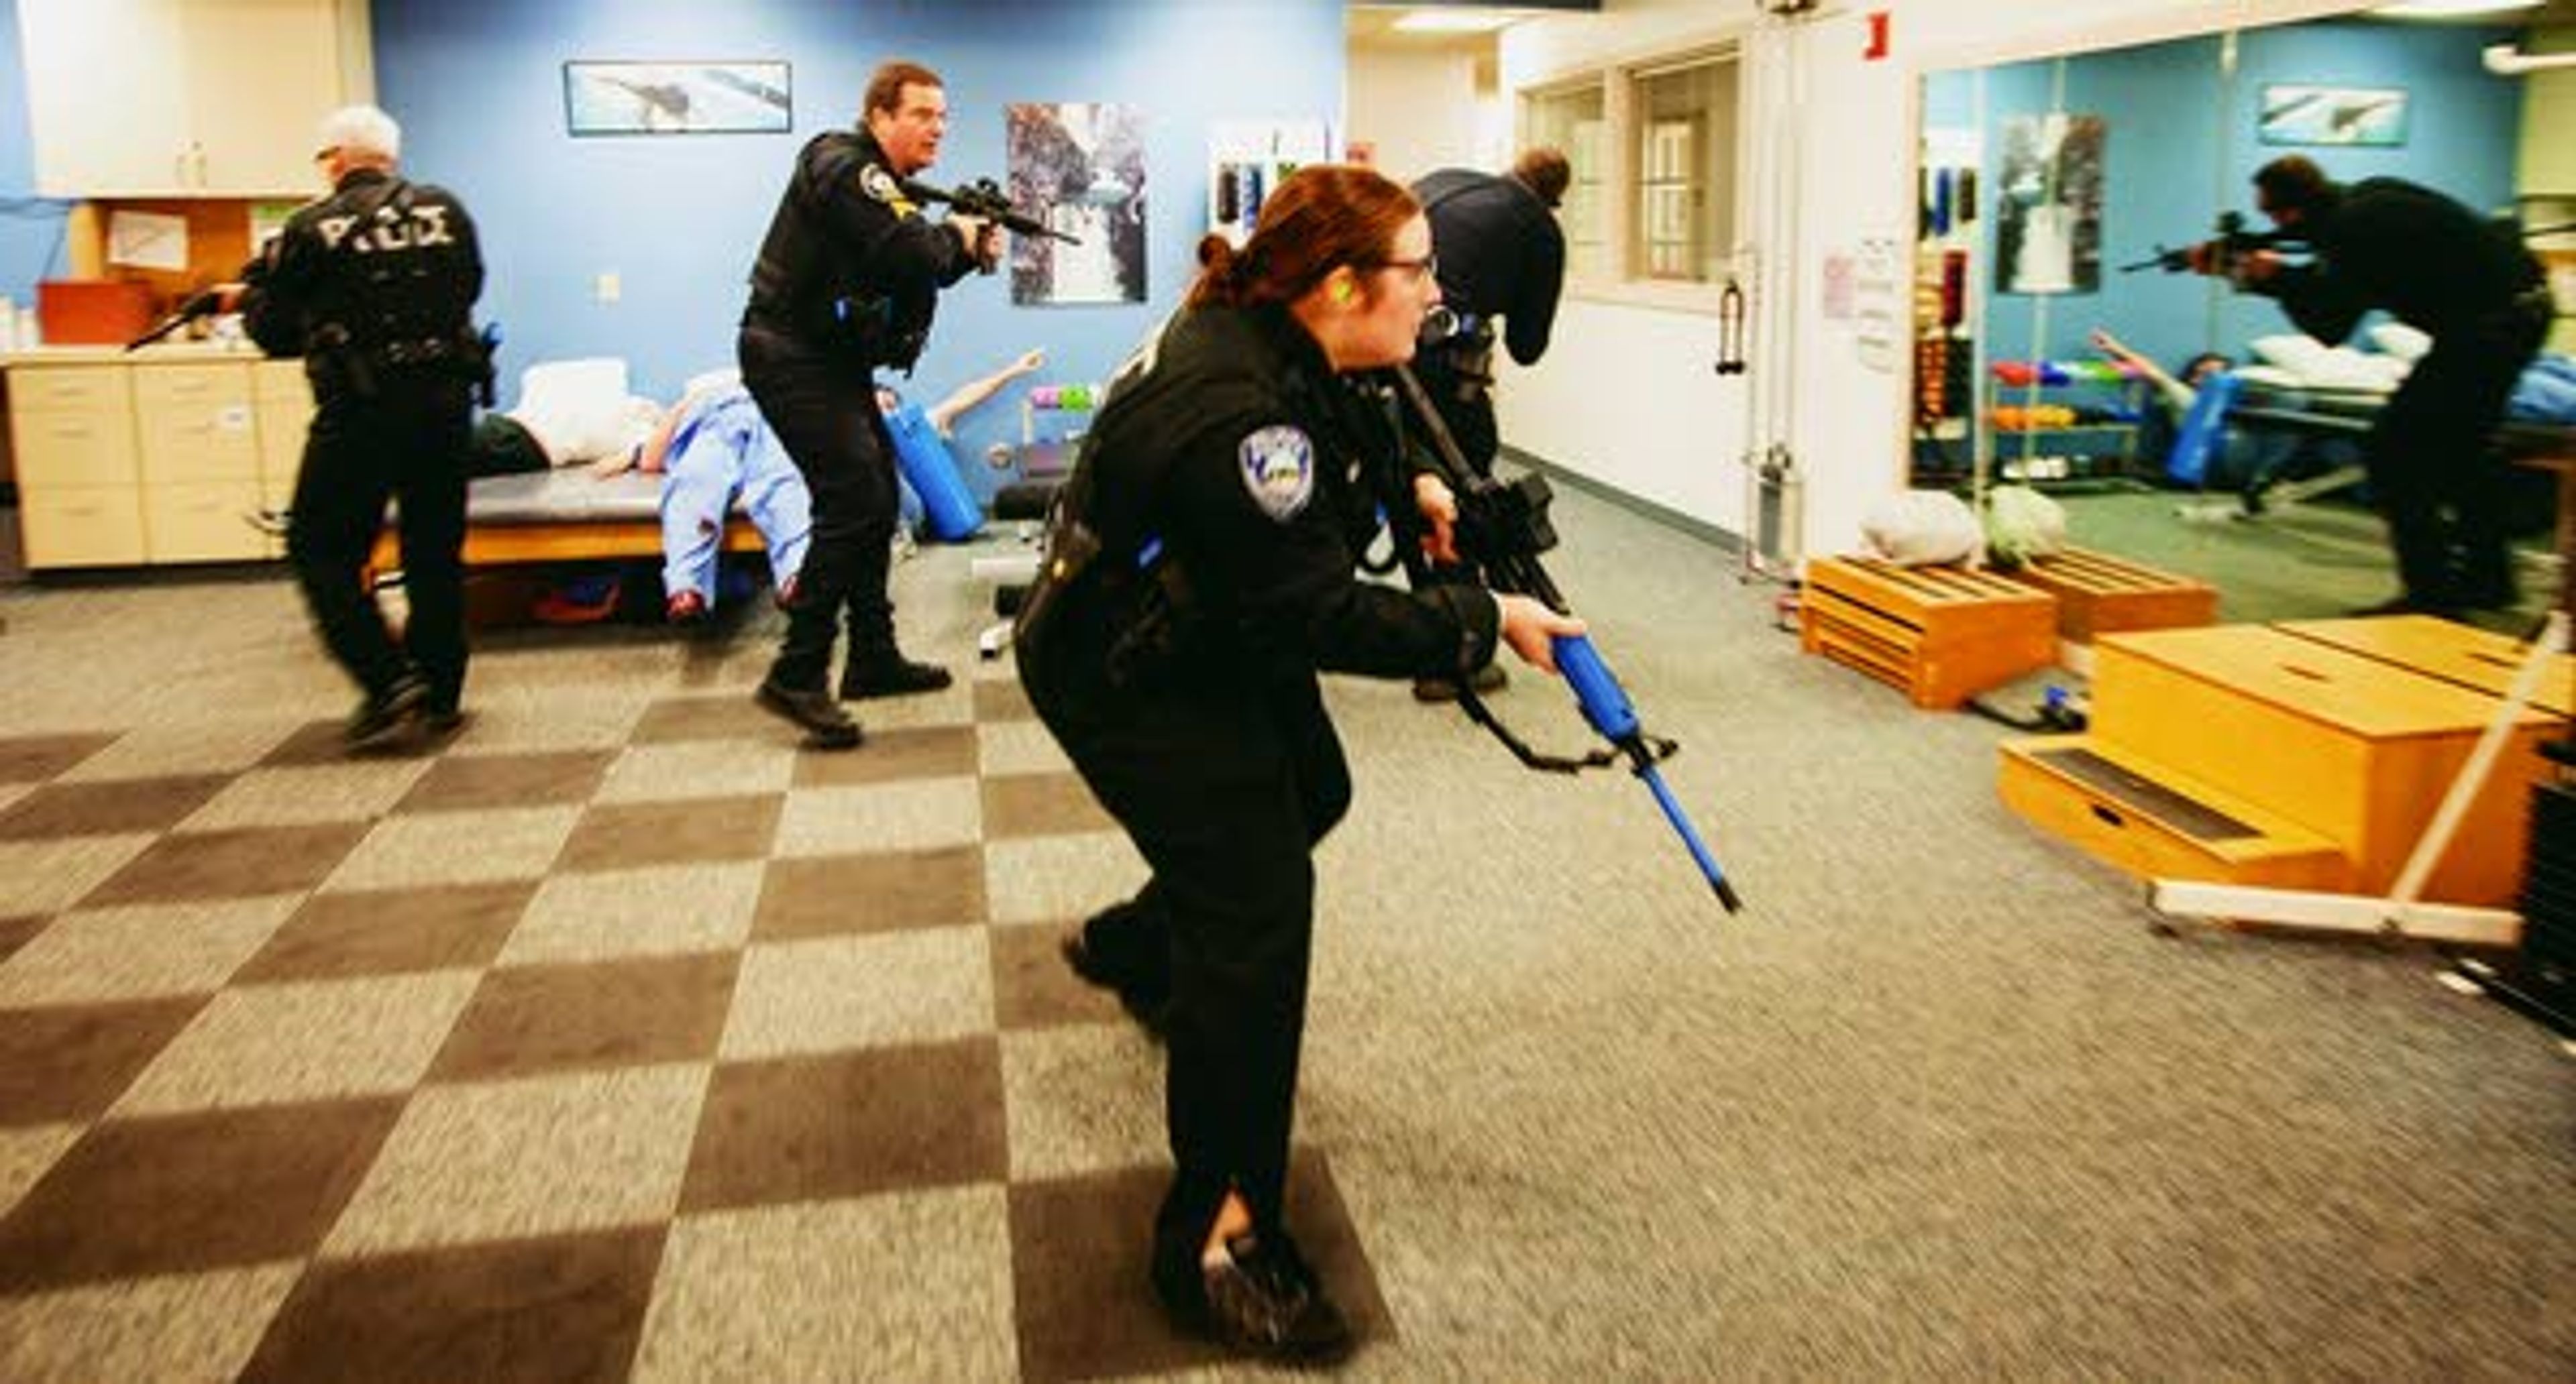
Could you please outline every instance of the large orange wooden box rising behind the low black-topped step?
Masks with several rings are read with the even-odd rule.
[[[2499,697],[2269,625],[2105,635],[2092,733],[2133,764],[2210,785],[2331,841],[2349,888],[2385,893]],[[2524,710],[2424,895],[2506,906],[2522,880],[2540,741]]]

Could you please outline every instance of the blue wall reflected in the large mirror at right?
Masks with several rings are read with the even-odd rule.
[[[2063,108],[2097,113],[2105,134],[2102,288],[2048,298],[2038,340],[2038,298],[1996,293],[1994,198],[1981,193],[1978,270],[1989,286],[1986,355],[2087,358],[2092,327],[2110,327],[2141,352],[2177,365],[2202,347],[2244,355],[2254,337],[2290,332],[2267,298],[2156,270],[2123,275],[2159,244],[2205,239],[2221,208],[2254,214],[2251,175],[2277,154],[2316,157],[2334,178],[2406,178],[2476,208],[2514,198],[2514,147],[2522,85],[2488,75],[2478,51],[2509,39],[2488,26],[2298,23],[2239,36],[2233,82],[2221,72],[2215,36],[2063,59]],[[1984,80],[1981,185],[1994,188],[2007,116],[2050,111],[2058,62],[2025,62],[1927,80],[1924,123],[1971,126]],[[2254,136],[2262,87],[2277,82],[2403,87],[2411,129],[2396,149],[2285,149]]]

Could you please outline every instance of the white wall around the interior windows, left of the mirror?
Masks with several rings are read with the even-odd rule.
[[[1821,316],[1824,262],[1862,239],[1911,242],[1914,90],[1924,72],[2125,46],[2179,33],[2285,23],[2362,8],[2360,0],[1878,0],[1826,5],[1803,21],[1757,18],[1752,3],[1605,0],[1597,15],[1520,23],[1502,36],[1504,100],[1517,87],[1584,67],[1651,59],[1728,36],[1747,39],[1749,147],[1780,139],[1780,93],[1801,93],[1793,214],[1747,165],[1741,224],[1754,278],[1793,311],[1757,332],[1752,373],[1716,381],[1716,288],[1677,306],[1569,304],[1535,370],[1507,373],[1497,396],[1510,445],[1602,478],[1728,533],[1744,533],[1734,458],[1783,440],[1806,473],[1808,556],[1850,551],[1860,520],[1906,484],[1909,347],[1865,358],[1850,324]],[[1862,62],[1868,10],[1891,13],[1891,57]],[[1793,67],[1790,75],[1767,67]],[[1795,232],[1785,226],[1795,224]],[[1785,244],[1765,244],[1770,229]],[[1899,301],[1899,311],[1904,301]],[[1785,370],[1785,376],[1780,376]],[[1728,463],[1710,473],[1710,455]]]

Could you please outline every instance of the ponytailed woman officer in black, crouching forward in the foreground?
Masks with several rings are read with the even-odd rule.
[[[1340,376],[1414,352],[1430,226],[1365,167],[1280,183],[1131,360],[1048,525],[1015,648],[1030,702],[1151,867],[1066,939],[1162,1019],[1177,1173],[1154,1286],[1229,1348],[1327,1361],[1350,1330],[1283,1225],[1314,931],[1314,844],[1350,805],[1319,671],[1463,677],[1497,643],[1553,666],[1579,623],[1528,597],[1360,581],[1386,417]],[[1455,502],[1412,499],[1440,543]]]

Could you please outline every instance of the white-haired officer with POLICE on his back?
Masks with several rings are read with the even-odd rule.
[[[296,473],[286,556],[332,659],[366,700],[348,741],[368,746],[415,715],[451,731],[466,684],[459,548],[466,442],[489,352],[471,327],[482,293],[474,221],[446,188],[394,172],[402,129],[374,105],[322,121],[314,159],[330,196],[299,208],[227,306],[268,355],[301,355],[314,419]],[[384,502],[399,504],[410,617],[397,641],[361,584]]]

